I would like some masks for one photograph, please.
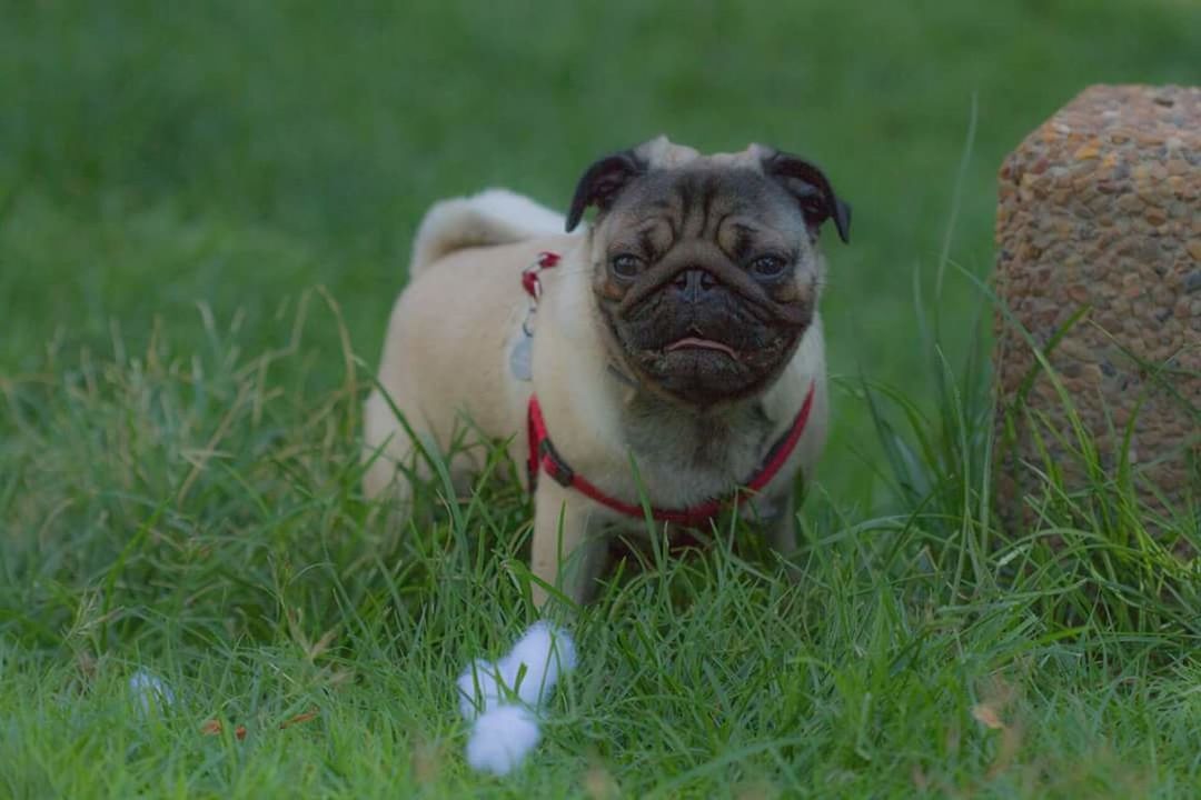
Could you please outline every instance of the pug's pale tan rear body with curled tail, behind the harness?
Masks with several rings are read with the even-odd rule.
[[[442,200],[426,212],[408,287],[388,323],[378,385],[364,409],[368,495],[394,487],[404,505],[411,487],[395,481],[396,467],[428,473],[424,459],[414,462],[411,432],[443,452],[466,420],[494,438],[520,432],[528,384],[503,377],[527,306],[520,275],[540,249],[566,252],[578,236],[564,227],[562,215],[498,188]],[[478,449],[468,450],[452,461],[452,473],[478,468]],[[518,450],[514,458],[521,458]]]

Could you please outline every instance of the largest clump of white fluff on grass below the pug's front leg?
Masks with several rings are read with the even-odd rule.
[[[472,769],[506,775],[538,744],[538,711],[558,679],[575,668],[567,631],[534,622],[496,663],[482,658],[459,675],[459,711],[473,722],[467,742]]]

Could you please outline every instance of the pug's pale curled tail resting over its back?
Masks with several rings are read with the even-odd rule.
[[[408,279],[456,249],[562,234],[564,227],[562,215],[508,190],[435,203],[417,229]]]

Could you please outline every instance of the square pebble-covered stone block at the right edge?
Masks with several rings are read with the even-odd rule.
[[[1128,459],[1140,494],[1173,509],[1201,500],[1201,89],[1092,86],[1005,160],[997,211],[998,297],[1045,347],[1086,315],[1050,361],[1112,471],[1135,416]],[[994,318],[997,389],[1005,410],[1035,365],[1003,314]],[[1069,483],[1080,485],[1068,416],[1052,383],[1027,405]],[[1042,464],[1029,420],[1002,449],[1005,516]],[[1116,433],[1115,433],[1116,432]],[[1004,439],[1002,439],[1004,443]],[[1016,446],[1012,443],[1016,441]]]

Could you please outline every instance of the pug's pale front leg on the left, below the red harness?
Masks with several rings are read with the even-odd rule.
[[[609,552],[603,525],[591,513],[590,505],[586,498],[546,475],[534,492],[530,566],[536,577],[576,603],[592,599]],[[534,604],[539,608],[549,596],[542,585],[533,587]]]

